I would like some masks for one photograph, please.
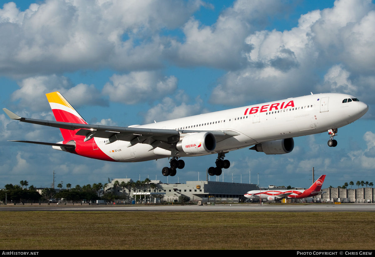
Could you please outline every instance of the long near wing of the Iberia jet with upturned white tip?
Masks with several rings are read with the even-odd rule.
[[[47,120],[37,120],[31,118],[23,118],[14,114],[6,108],[3,111],[13,120],[18,120],[21,122],[39,124],[43,126],[56,127],[60,129],[68,130],[78,130],[77,135],[85,136],[84,141],[92,139],[93,137],[107,138],[108,143],[115,142],[117,140],[124,140],[130,142],[129,146],[135,145],[137,143],[147,143],[153,145],[156,141],[170,144],[177,143],[180,140],[180,133],[196,133],[196,132],[210,132],[214,134],[217,142],[224,140],[228,137],[237,136],[239,133],[230,130],[222,131],[200,131],[200,130],[174,130],[174,129],[147,129],[138,127],[114,127],[114,126],[102,126],[102,125],[92,125],[92,124],[78,124],[78,123],[66,123],[59,121],[47,121]],[[22,142],[22,141],[18,141]],[[23,141],[26,142],[26,141]],[[31,141],[28,141],[31,143]],[[41,143],[41,142],[34,142]],[[48,144],[48,143],[45,143]],[[169,148],[167,145],[154,145],[155,147]]]

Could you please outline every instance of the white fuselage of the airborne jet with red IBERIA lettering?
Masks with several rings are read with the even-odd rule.
[[[146,143],[127,147],[129,142],[122,140],[105,145],[106,139],[94,139],[104,153],[124,162],[228,152],[270,140],[327,132],[353,123],[368,110],[363,102],[343,103],[344,99],[354,98],[347,94],[314,94],[137,126],[178,130],[181,139],[189,135],[183,130],[229,130],[239,134],[217,142],[214,151],[204,154],[166,151],[159,147],[150,150]]]

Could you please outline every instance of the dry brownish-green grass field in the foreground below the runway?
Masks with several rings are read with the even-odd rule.
[[[374,212],[0,212],[0,249],[374,249]]]

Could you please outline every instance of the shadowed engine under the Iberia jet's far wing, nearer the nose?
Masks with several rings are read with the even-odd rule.
[[[293,138],[285,138],[258,143],[254,145],[252,150],[264,152],[265,154],[287,154],[294,148]]]

